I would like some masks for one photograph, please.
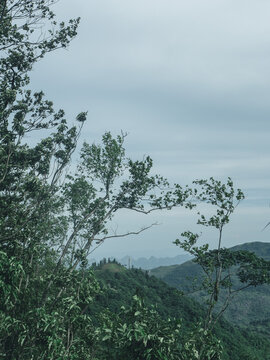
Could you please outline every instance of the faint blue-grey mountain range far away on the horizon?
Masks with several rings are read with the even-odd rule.
[[[113,258],[110,259],[113,260]],[[121,265],[126,266],[127,268],[134,267],[137,269],[150,270],[157,268],[159,266],[180,265],[190,259],[191,256],[188,254],[177,255],[174,257],[164,257],[164,258],[163,257],[157,258],[155,256],[151,256],[150,258],[141,257],[139,259],[134,259],[133,257],[126,255],[121,259],[116,258],[116,261]],[[96,262],[95,259],[89,259],[90,264],[95,262]]]

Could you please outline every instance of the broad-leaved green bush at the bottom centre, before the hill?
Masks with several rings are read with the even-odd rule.
[[[100,329],[102,358],[115,360],[173,360],[182,359],[179,322],[164,320],[152,306],[133,296],[132,305],[113,317],[104,317]]]

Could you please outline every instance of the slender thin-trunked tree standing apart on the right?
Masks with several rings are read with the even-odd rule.
[[[194,198],[215,208],[215,213],[209,218],[198,212],[197,224],[213,227],[218,231],[217,246],[213,250],[209,249],[207,243],[197,246],[199,235],[191,231],[183,232],[181,236],[184,240],[177,239],[175,244],[189,252],[194,257],[193,261],[202,269],[204,276],[200,279],[201,284],[197,290],[203,290],[206,297],[208,310],[202,329],[208,336],[239,291],[270,283],[270,262],[249,251],[232,251],[222,247],[224,226],[229,223],[230,216],[244,199],[242,191],[234,189],[231,178],[225,184],[213,178],[197,180],[194,184]],[[204,359],[202,353],[207,341],[202,338],[201,343],[198,359]]]

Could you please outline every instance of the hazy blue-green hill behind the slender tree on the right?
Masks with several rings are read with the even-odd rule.
[[[265,260],[270,260],[270,243],[245,243],[231,249],[251,251]],[[202,302],[205,297],[202,291],[193,292],[196,285],[200,283],[203,273],[200,266],[192,261],[177,266],[153,269],[151,275],[189,294],[197,301]],[[195,278],[197,281],[192,282]],[[232,324],[270,334],[270,286],[260,285],[239,292],[232,299],[224,317]]]

